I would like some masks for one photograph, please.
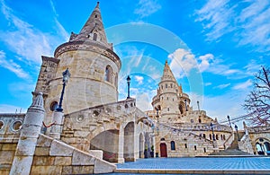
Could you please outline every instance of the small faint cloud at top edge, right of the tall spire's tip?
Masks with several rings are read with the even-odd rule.
[[[139,0],[138,7],[135,9],[134,13],[139,14],[141,18],[147,17],[152,13],[156,13],[161,9],[161,5],[157,3],[156,0]]]

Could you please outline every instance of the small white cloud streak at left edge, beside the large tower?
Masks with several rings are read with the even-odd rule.
[[[20,78],[29,78],[30,75],[23,71],[23,68],[14,63],[14,60],[6,60],[5,53],[3,50],[0,50],[0,66],[10,70]]]

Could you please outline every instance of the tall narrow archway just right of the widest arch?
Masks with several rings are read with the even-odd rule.
[[[134,122],[128,123],[124,128],[124,153],[125,162],[134,161]]]

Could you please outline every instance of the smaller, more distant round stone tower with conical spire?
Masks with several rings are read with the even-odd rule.
[[[152,106],[158,110],[159,121],[179,121],[189,109],[189,96],[182,91],[178,85],[167,61],[164,66],[163,75],[158,83],[157,95],[153,97]]]

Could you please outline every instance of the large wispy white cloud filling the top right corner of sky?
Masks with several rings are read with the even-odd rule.
[[[270,50],[270,2],[242,1],[233,4],[229,0],[208,1],[196,13],[202,22],[207,40],[219,40],[233,32],[238,45],[256,46],[257,51]],[[240,13],[239,13],[240,12]]]

